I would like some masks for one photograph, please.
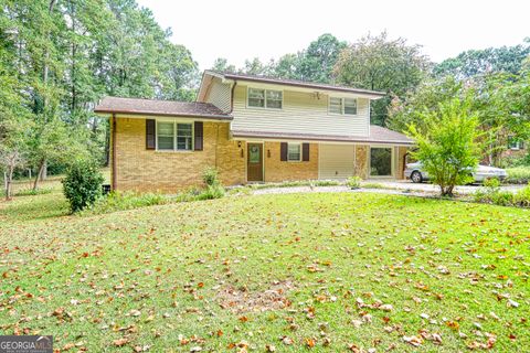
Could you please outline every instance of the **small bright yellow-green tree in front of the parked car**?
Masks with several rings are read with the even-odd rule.
[[[442,103],[438,111],[423,113],[426,131],[414,125],[410,135],[417,150],[411,154],[423,164],[442,196],[453,196],[454,188],[473,181],[478,164],[478,117],[467,100],[454,98]]]

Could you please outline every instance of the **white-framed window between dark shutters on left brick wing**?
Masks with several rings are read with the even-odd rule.
[[[191,151],[193,126],[172,121],[157,121],[157,149],[162,151]]]

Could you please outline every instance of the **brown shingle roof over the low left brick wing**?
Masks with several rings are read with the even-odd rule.
[[[174,101],[141,98],[105,97],[94,108],[100,114],[132,114],[170,117],[200,117],[216,120],[232,120],[230,114],[210,103]]]

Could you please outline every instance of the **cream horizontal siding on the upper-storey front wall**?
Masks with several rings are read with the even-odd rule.
[[[233,130],[338,136],[369,133],[368,98],[358,98],[358,114],[352,116],[329,114],[328,96],[325,94],[284,89],[282,109],[247,107],[246,95],[247,86],[237,84],[234,92]]]

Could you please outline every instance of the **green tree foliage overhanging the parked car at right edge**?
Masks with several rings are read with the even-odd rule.
[[[425,110],[439,114],[442,104],[455,98],[467,99],[469,109],[478,117],[478,129],[484,132],[481,157],[488,164],[500,165],[509,138],[530,138],[528,82],[526,74],[515,76],[505,73],[478,75],[465,81],[452,76],[426,81],[403,99],[394,97],[386,125],[394,130],[406,131],[409,125],[414,124],[417,130],[425,132]]]

